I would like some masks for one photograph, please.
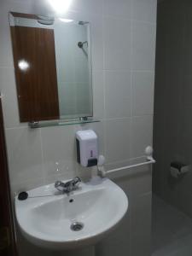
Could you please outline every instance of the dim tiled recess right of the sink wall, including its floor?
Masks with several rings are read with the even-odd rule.
[[[154,89],[153,255],[192,255],[192,1],[161,0]]]

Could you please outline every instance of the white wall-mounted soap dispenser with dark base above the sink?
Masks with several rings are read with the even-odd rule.
[[[84,130],[76,132],[77,160],[81,166],[96,166],[98,160],[98,142],[96,132]]]

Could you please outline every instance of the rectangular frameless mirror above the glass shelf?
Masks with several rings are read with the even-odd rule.
[[[20,122],[91,117],[90,23],[10,13]]]

